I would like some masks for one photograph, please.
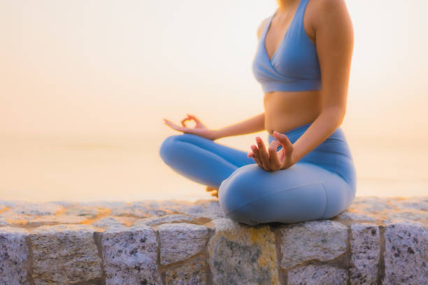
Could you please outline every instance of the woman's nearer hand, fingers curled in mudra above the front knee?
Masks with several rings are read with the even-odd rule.
[[[256,142],[258,147],[251,145],[252,152],[248,152],[248,157],[252,156],[257,164],[266,171],[287,169],[297,162],[293,155],[294,147],[283,133],[274,131],[273,137],[276,138],[276,140],[272,140],[266,152],[266,147],[264,147],[262,138],[257,136]],[[280,145],[282,145],[283,148],[277,152],[276,149]]]

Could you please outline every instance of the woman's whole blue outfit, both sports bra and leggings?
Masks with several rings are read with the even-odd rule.
[[[300,1],[271,60],[264,38],[273,16],[264,28],[253,62],[264,92],[320,89],[315,45],[303,29],[308,1]],[[309,126],[311,123],[284,133],[294,143]],[[269,145],[274,139],[269,134]],[[176,173],[218,188],[224,215],[248,225],[329,219],[352,203],[357,189],[354,162],[341,127],[283,170],[266,171],[247,152],[190,133],[166,138],[159,154]]]

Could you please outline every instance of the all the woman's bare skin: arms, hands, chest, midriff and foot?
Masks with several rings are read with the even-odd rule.
[[[266,33],[265,48],[271,58],[290,26],[301,0],[277,0],[278,12]],[[266,22],[257,29],[260,37]],[[350,63],[353,50],[353,27],[345,0],[310,0],[304,14],[304,30],[315,43],[320,61],[322,89],[301,92],[267,92],[265,112],[223,129],[208,129],[194,115],[188,115],[177,126],[164,123],[183,133],[194,133],[210,140],[266,130],[276,138],[266,149],[262,138],[255,138],[248,157],[266,171],[290,168],[301,157],[327,139],[343,122],[348,97]],[[185,126],[194,120],[196,126]],[[294,144],[283,133],[304,124],[311,126]],[[279,145],[283,148],[276,152]],[[216,191],[207,187],[206,191]],[[217,193],[211,195],[217,196]]]

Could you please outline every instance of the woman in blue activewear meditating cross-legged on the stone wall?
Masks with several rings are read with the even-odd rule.
[[[355,198],[355,166],[341,123],[354,35],[345,0],[278,0],[259,25],[252,71],[264,112],[223,129],[194,115],[166,138],[160,156],[181,175],[218,190],[222,211],[248,225],[329,219]],[[196,126],[188,128],[187,120]],[[251,151],[214,140],[265,130]]]

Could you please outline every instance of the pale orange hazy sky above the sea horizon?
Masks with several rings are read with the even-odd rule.
[[[348,0],[355,136],[428,138],[428,2]],[[251,73],[276,1],[0,0],[0,133],[171,133],[262,112]]]

